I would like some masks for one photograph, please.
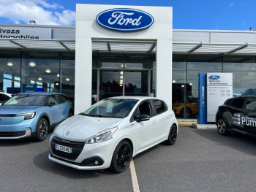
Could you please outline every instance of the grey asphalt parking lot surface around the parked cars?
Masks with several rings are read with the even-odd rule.
[[[0,141],[0,191],[133,191],[130,169],[79,171],[49,161],[48,139]],[[255,191],[255,162],[256,139],[190,127],[180,127],[176,145],[134,158],[140,191]]]

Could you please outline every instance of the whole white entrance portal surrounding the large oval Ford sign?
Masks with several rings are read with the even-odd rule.
[[[151,14],[154,23],[141,31],[113,31],[99,26],[99,12],[114,8],[140,9]],[[101,4],[77,4],[76,7],[76,61],[75,114],[91,106],[91,61],[89,39],[130,39],[157,41],[157,97],[172,103],[172,7],[140,7]],[[79,49],[79,50],[78,50]],[[85,72],[86,70],[86,72]]]

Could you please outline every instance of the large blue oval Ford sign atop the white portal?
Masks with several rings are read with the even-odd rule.
[[[138,31],[154,23],[154,18],[147,12],[126,8],[105,10],[96,20],[99,25],[117,31]]]

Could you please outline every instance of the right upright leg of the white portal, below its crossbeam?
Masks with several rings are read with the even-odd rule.
[[[171,39],[157,39],[157,98],[172,107],[172,52]]]

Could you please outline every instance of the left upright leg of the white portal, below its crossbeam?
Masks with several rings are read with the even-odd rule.
[[[91,106],[91,38],[75,38],[75,114]]]

